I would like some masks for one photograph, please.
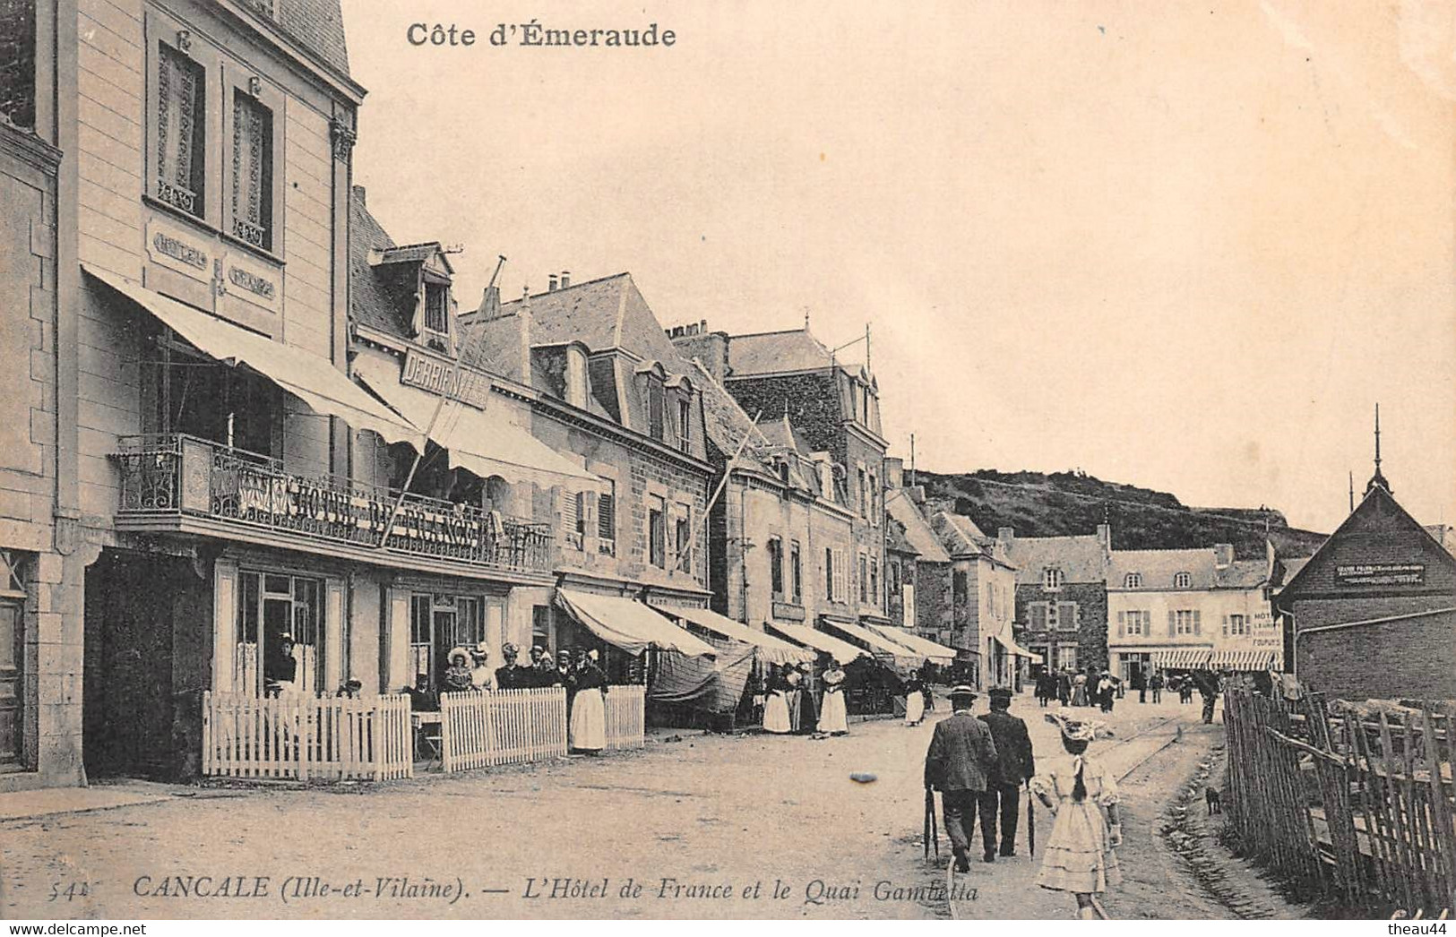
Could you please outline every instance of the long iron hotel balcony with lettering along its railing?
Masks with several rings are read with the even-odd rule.
[[[118,531],[199,534],[453,575],[539,576],[553,563],[546,524],[405,495],[384,535],[399,492],[293,474],[275,458],[197,436],[124,436],[112,460],[121,471]]]

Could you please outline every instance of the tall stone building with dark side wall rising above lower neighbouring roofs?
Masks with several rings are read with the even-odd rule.
[[[847,592],[852,620],[888,624],[884,597],[884,458],[879,387],[869,368],[844,364],[805,326],[788,332],[728,335],[708,323],[674,329],[673,343],[696,358],[761,423],[786,419],[811,458],[826,464],[820,485],[852,511],[846,554],[815,554],[828,582]],[[826,458],[820,460],[817,454]],[[826,592],[828,597],[830,592]]]

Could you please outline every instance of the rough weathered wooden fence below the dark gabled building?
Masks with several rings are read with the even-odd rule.
[[[1245,853],[1353,906],[1456,908],[1453,713],[1227,693],[1229,816]]]

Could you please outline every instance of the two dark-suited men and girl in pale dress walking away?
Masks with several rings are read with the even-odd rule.
[[[1060,709],[1048,713],[1047,722],[1060,729],[1064,755],[1037,773],[1026,723],[1010,714],[1010,690],[992,690],[990,713],[976,717],[976,691],[952,688],[952,714],[936,723],[925,757],[925,787],[941,792],[955,869],[970,872],[977,816],[987,863],[1016,854],[1025,784],[1056,818],[1042,845],[1037,885],[1073,893],[1080,918],[1105,918],[1096,895],[1121,882],[1115,847],[1123,842],[1123,828],[1115,777],[1086,757],[1102,723]]]

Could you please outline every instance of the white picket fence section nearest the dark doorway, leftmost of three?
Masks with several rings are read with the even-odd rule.
[[[409,697],[202,694],[202,774],[390,780],[414,774]]]

